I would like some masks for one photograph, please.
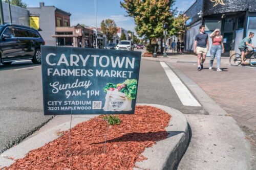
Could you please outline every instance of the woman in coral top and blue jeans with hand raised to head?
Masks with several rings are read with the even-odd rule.
[[[221,53],[224,53],[224,44],[223,37],[220,35],[220,29],[216,29],[214,32],[210,34],[212,38],[212,45],[210,49],[210,67],[212,69],[212,65],[214,64],[214,58],[217,57],[217,71],[222,71],[220,68],[221,65]]]

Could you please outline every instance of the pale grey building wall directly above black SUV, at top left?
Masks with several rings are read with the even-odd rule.
[[[8,3],[2,2],[5,23],[10,23]],[[11,5],[12,23],[29,26],[29,11],[25,8]]]

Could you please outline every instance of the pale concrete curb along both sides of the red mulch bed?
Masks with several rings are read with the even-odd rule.
[[[146,148],[142,154],[148,159],[143,162],[136,162],[136,166],[139,168],[134,169],[150,168],[151,170],[159,170],[176,168],[188,144],[189,132],[185,116],[178,110],[162,105],[137,105],[157,107],[166,111],[168,114],[172,115],[172,117],[170,118],[169,126],[165,128],[168,132],[168,137],[158,141],[152,148]],[[93,118],[98,115],[81,115],[79,117],[83,116],[84,118]],[[71,127],[83,121],[83,118],[72,118]],[[14,160],[24,158],[31,150],[40,148],[46,143],[53,141],[59,137],[59,132],[69,130],[69,128],[70,122],[66,122],[19,143],[0,155],[0,167],[10,166],[14,163]]]

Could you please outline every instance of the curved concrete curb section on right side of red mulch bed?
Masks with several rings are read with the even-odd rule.
[[[168,132],[166,139],[158,141],[151,148],[146,148],[142,153],[147,157],[147,160],[136,162],[135,165],[141,169],[176,169],[187,148],[189,132],[185,116],[178,110],[173,108],[155,105],[155,104],[139,104],[153,106],[166,111],[172,115],[168,127],[165,130]]]

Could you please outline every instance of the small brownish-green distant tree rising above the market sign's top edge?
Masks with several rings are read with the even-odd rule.
[[[116,23],[112,19],[106,19],[101,21],[101,31],[106,35],[106,40],[112,40],[113,37],[117,34]]]

